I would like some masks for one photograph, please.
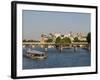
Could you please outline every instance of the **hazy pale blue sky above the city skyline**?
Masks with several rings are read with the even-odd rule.
[[[90,13],[23,10],[23,39],[39,40],[41,34],[90,32]]]

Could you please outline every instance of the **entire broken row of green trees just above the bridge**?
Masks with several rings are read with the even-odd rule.
[[[53,42],[54,40],[53,40],[53,36],[50,38],[48,38],[45,42]],[[23,42],[40,42],[39,40],[23,40]],[[62,36],[60,37],[57,37],[56,39],[55,39],[55,43],[56,44],[67,44],[67,43],[71,43],[72,42],[72,40],[71,40],[71,38],[70,37],[64,37],[64,38],[62,38]],[[84,41],[80,41],[79,39],[78,39],[78,37],[75,37],[74,38],[74,40],[73,40],[73,42],[84,42]],[[89,32],[88,34],[87,34],[87,36],[86,36],[86,42],[88,42],[88,43],[90,43],[91,42],[91,33]]]

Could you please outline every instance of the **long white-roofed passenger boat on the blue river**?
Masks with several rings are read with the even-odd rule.
[[[29,57],[31,59],[46,59],[47,54],[45,52],[37,51],[37,50],[27,50],[24,56]]]

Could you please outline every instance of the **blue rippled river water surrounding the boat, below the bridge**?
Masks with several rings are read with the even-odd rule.
[[[33,48],[33,50],[44,51],[42,48]],[[23,48],[23,54],[26,49]],[[85,49],[78,48],[76,52],[73,49],[64,49],[61,53],[55,48],[49,48],[47,59],[32,60],[23,57],[23,69],[39,68],[57,68],[57,67],[80,67],[91,65],[91,54]]]

